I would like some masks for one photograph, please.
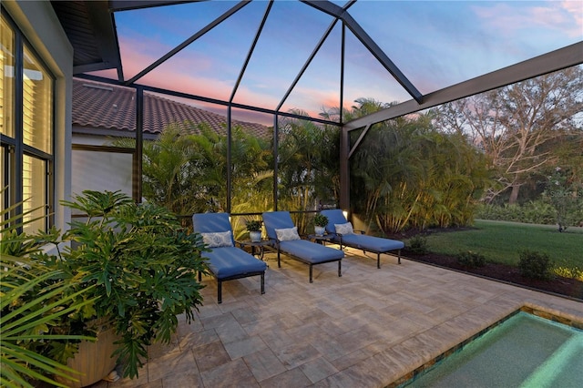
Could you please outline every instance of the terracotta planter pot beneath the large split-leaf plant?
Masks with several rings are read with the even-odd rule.
[[[105,327],[97,332],[97,341],[79,343],[79,352],[66,363],[69,368],[83,374],[71,374],[78,382],[56,377],[56,381],[72,388],[81,388],[97,383],[116,368],[116,359],[111,354],[116,351],[119,336],[113,327]]]

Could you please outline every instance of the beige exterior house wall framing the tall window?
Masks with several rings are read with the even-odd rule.
[[[64,230],[70,210],[59,205],[71,194],[71,96],[73,47],[48,1],[3,1],[2,5],[26,36],[55,79],[54,209],[56,228]]]

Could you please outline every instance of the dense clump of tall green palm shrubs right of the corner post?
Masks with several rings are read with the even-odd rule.
[[[375,124],[351,160],[353,212],[384,231],[469,225],[489,182],[483,154],[432,112]]]

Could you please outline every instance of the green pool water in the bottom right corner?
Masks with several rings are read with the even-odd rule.
[[[583,387],[583,331],[521,311],[405,386]]]

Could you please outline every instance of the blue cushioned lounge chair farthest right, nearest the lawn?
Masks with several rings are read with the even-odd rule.
[[[358,230],[358,233],[354,233],[352,224],[348,223],[342,209],[322,210],[320,213],[328,217],[326,232],[332,235],[333,241],[340,244],[341,250],[345,246],[376,253],[376,268],[381,268],[381,253],[398,250],[397,258],[399,264],[401,264],[401,250],[404,248],[403,241],[367,236],[360,230]],[[341,225],[341,227],[336,225]],[[343,228],[346,230],[345,233],[340,232]]]

